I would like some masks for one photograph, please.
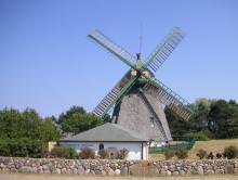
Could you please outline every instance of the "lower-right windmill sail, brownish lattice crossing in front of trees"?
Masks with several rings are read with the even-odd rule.
[[[191,111],[188,107],[189,103],[161,81],[149,79],[144,89],[150,91],[151,94],[157,93],[156,97],[158,97],[158,100],[183,119],[188,120],[190,118]]]

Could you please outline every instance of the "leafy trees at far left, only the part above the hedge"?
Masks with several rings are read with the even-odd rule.
[[[52,119],[41,118],[32,108],[23,113],[13,108],[0,111],[0,139],[30,138],[48,142],[60,137]]]

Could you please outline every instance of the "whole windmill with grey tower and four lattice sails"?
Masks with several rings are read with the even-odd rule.
[[[145,63],[142,62],[140,53],[136,56],[130,54],[100,30],[94,30],[88,37],[130,67],[93,110],[93,114],[104,118],[114,110],[114,123],[144,133],[156,142],[171,141],[163,106],[185,120],[189,119],[191,110],[185,99],[156,79],[154,73],[182,41],[183,31],[174,27]]]

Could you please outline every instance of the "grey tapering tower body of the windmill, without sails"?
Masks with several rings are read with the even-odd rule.
[[[162,104],[150,93],[130,92],[113,113],[114,123],[147,136],[155,144],[172,140]]]

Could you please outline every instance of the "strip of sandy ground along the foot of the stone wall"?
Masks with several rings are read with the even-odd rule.
[[[98,177],[66,175],[26,175],[0,172],[0,180],[238,180],[238,176],[191,176],[191,177]]]

